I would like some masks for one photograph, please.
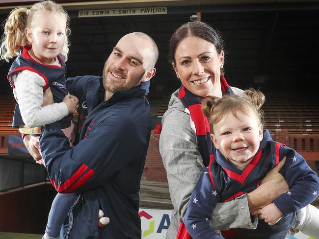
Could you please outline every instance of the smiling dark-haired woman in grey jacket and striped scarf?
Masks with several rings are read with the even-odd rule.
[[[182,87],[172,94],[162,118],[160,154],[174,206],[166,238],[175,239],[190,195],[212,154],[210,130],[201,111],[201,100],[206,96],[222,97],[242,91],[227,84],[223,76],[224,43],[220,33],[209,25],[201,22],[182,25],[173,34],[169,51]],[[255,191],[217,204],[213,211],[213,228],[256,228],[258,217],[251,218],[250,212],[259,210],[288,191],[288,185],[278,173],[280,167],[274,168]]]

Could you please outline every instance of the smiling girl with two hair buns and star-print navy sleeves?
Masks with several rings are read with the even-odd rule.
[[[209,167],[191,195],[185,225],[194,239],[267,238],[283,239],[295,220],[295,212],[318,196],[319,179],[300,154],[263,132],[261,92],[248,90],[243,96],[212,97],[203,103],[216,148]],[[217,234],[210,227],[213,208],[256,189],[266,173],[286,156],[281,173],[290,190],[261,210],[257,228],[230,229]]]

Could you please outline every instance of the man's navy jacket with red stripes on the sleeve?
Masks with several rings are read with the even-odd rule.
[[[80,115],[88,113],[79,143],[70,148],[54,123],[43,127],[40,138],[56,191],[80,192],[62,238],[140,239],[139,188],[151,129],[145,98],[149,82],[115,92],[107,101],[101,100],[98,76],[69,78],[67,87],[80,99]],[[103,228],[97,223],[99,208],[110,218]]]

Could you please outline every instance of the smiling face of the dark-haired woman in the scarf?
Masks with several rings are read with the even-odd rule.
[[[173,68],[188,91],[196,96],[221,97],[220,69],[224,64],[224,52],[196,36],[183,39],[175,51]]]

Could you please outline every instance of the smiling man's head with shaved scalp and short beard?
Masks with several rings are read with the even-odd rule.
[[[115,91],[130,90],[149,81],[155,75],[158,57],[159,50],[149,35],[133,32],[123,36],[104,65],[105,99]]]

